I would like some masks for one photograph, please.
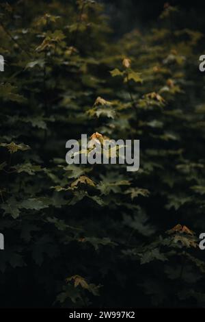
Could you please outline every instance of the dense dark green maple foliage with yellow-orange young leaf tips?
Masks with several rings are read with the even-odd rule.
[[[1,2],[1,306],[204,306],[203,35],[182,19],[115,42],[95,1]],[[83,133],[139,139],[139,171],[66,164]]]

